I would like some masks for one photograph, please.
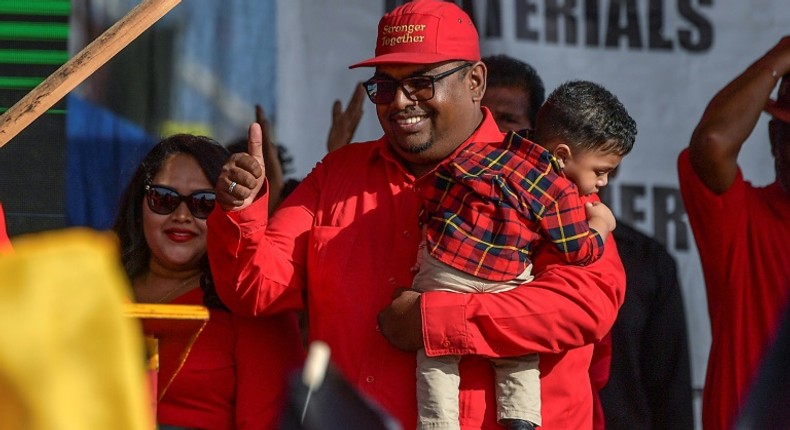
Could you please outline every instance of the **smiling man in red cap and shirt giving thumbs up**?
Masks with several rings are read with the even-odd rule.
[[[443,74],[463,62],[472,65]],[[417,423],[420,347],[469,355],[460,364],[461,428],[499,428],[485,357],[531,353],[541,354],[542,427],[591,428],[592,343],[609,331],[624,295],[611,240],[586,267],[538,252],[528,288],[406,288],[421,239],[420,188],[469,143],[504,137],[480,105],[486,67],[471,19],[452,2],[406,3],[379,23],[376,57],[355,66],[376,67],[367,91],[381,102],[384,136],[329,153],[271,219],[260,127],[250,127],[249,155],[234,154],[224,166],[216,187],[222,210],[208,221],[223,301],[253,315],[306,308],[310,340],[326,342],[343,376],[405,428]]]

